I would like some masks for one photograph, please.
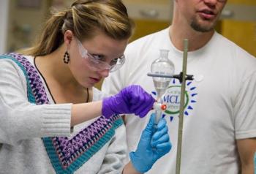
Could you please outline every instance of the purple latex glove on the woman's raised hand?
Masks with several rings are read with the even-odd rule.
[[[140,86],[127,86],[115,96],[103,99],[102,115],[110,118],[114,114],[135,113],[143,118],[154,102],[155,99]]]

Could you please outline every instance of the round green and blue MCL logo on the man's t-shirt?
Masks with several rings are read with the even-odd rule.
[[[156,96],[156,92],[152,91],[152,94]],[[185,103],[184,103],[184,116],[191,116],[192,110],[196,103],[197,90],[192,81],[187,81],[185,91]],[[162,113],[162,117],[170,117],[170,121],[173,118],[178,117],[179,107],[181,102],[181,83],[178,80],[173,79],[165,94],[162,96],[162,103],[167,105],[167,110]]]

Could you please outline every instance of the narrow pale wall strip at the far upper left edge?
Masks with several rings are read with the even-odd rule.
[[[0,54],[7,51],[9,0],[0,0]]]

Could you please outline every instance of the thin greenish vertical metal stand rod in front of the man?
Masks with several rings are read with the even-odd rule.
[[[187,52],[189,48],[188,39],[184,39],[184,53],[183,53],[183,66],[182,66],[182,83],[181,83],[181,102],[180,111],[178,116],[178,144],[176,156],[176,174],[181,173],[181,147],[182,147],[182,133],[183,133],[183,118],[184,118],[184,102],[186,90],[186,75],[187,75]]]

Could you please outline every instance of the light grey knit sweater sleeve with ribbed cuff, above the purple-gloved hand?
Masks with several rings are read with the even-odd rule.
[[[0,67],[0,144],[17,145],[34,137],[70,135],[72,104],[31,104],[26,77],[18,65],[1,59]]]

